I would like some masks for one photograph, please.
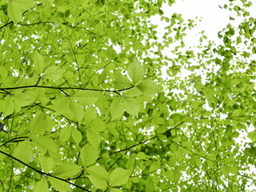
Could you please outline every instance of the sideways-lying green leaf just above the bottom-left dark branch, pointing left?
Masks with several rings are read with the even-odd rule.
[[[72,178],[74,175],[82,171],[82,167],[74,164],[73,162],[62,162],[57,166],[54,175],[59,178]]]

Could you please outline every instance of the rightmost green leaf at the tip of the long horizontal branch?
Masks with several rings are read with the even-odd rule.
[[[158,93],[158,85],[152,82],[150,79],[143,80],[138,84],[138,89],[142,91],[142,94],[154,95]]]

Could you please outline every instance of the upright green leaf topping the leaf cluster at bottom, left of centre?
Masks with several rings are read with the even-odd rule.
[[[82,161],[82,166],[90,166],[94,164],[98,158],[98,150],[90,144],[86,144],[80,150],[80,158]]]

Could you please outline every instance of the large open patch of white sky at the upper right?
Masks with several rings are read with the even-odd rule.
[[[220,9],[218,5],[224,5],[227,0],[176,0],[171,7],[164,6],[162,10],[166,16],[171,17],[172,14],[182,14],[182,18],[194,19],[196,17],[202,18],[202,22],[198,22],[198,26],[186,33],[186,46],[197,46],[199,43],[198,32],[205,30],[205,34],[208,39],[214,42],[221,42],[218,39],[218,31],[222,30],[228,23],[232,25],[238,25],[242,22],[242,18],[236,18],[235,21],[230,21],[230,16],[235,18],[235,15],[230,15],[228,10]],[[256,17],[256,6],[253,5],[250,8],[250,13],[253,17]],[[161,34],[164,27],[164,22],[160,22],[160,16],[153,17],[151,20],[154,24],[158,24],[158,32]],[[161,25],[159,25],[161,23]],[[196,38],[197,37],[197,38]]]

